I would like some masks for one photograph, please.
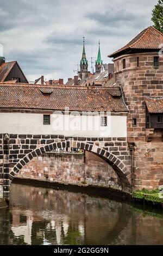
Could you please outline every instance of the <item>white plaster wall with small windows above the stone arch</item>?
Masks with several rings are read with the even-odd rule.
[[[43,125],[43,114],[0,113],[0,133],[56,134],[84,137],[127,137],[127,117],[108,115],[101,127],[99,115],[52,114],[51,125]]]

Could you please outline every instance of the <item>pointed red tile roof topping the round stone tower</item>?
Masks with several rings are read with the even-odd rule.
[[[128,49],[161,49],[163,44],[163,34],[155,29],[153,26],[144,29],[139,35],[131,40],[127,45],[120,48],[116,52],[110,54],[108,57],[114,57],[124,50]]]

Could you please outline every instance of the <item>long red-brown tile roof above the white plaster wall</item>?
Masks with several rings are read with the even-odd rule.
[[[0,83],[0,108],[127,112],[121,89]]]

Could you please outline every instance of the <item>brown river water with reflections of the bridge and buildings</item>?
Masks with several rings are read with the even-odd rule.
[[[163,218],[86,194],[12,184],[0,211],[0,245],[143,245],[163,243]]]

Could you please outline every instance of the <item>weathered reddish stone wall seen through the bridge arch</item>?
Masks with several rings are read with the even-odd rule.
[[[95,158],[95,159],[94,159]],[[47,153],[27,163],[17,178],[76,185],[96,185],[122,190],[115,170],[100,157],[87,153]]]

